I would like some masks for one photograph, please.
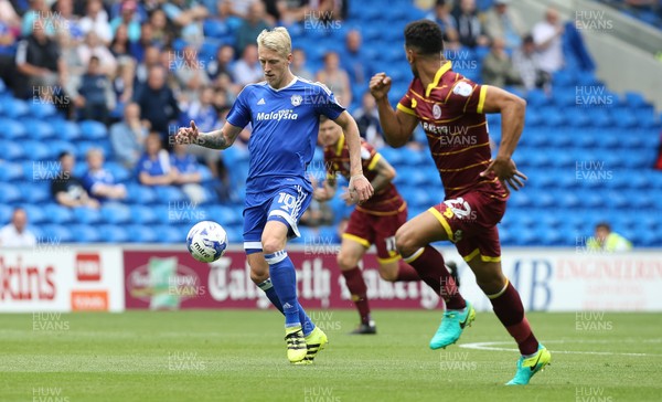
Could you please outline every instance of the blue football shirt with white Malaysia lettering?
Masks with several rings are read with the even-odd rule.
[[[266,81],[246,85],[227,115],[233,126],[253,125],[246,194],[259,202],[284,186],[312,191],[306,169],[314,154],[320,116],[335,120],[343,112],[327,86],[300,77],[280,89]]]

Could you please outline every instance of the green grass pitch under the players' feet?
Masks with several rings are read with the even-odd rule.
[[[530,314],[552,366],[510,388],[517,352],[491,313],[441,351],[439,311],[374,311],[376,336],[346,335],[353,310],[310,313],[330,343],[308,367],[275,311],[2,315],[0,401],[662,400],[659,314]]]

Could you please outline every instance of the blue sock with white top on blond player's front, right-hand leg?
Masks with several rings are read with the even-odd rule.
[[[285,250],[274,254],[265,254],[265,260],[269,264],[271,284],[282,305],[285,326],[301,326],[303,335],[309,335],[314,326],[310,322],[310,318],[308,318],[308,315],[306,315],[306,311],[301,308],[297,299],[295,264],[292,264]]]

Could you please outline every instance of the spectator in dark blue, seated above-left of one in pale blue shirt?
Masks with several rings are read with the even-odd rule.
[[[89,59],[87,72],[81,78],[75,104],[79,119],[108,124],[108,115],[115,108],[115,93],[110,80],[102,73],[97,56]]]

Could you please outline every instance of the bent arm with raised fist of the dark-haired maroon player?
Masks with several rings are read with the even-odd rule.
[[[388,103],[389,89],[391,77],[386,76],[385,73],[377,73],[370,80],[370,93],[377,104],[384,139],[389,146],[397,148],[407,144],[418,124],[418,119],[391,107]]]

